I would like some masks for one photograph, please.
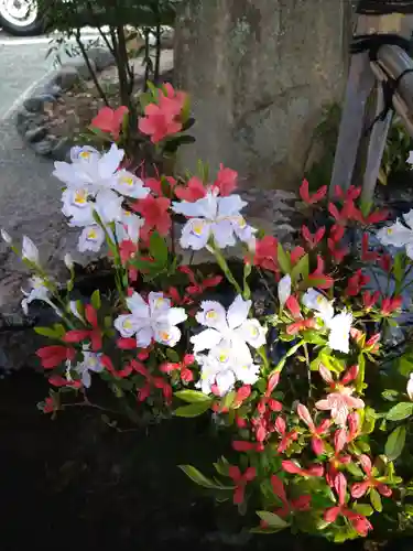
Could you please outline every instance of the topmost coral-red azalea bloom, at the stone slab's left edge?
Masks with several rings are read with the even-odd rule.
[[[139,130],[151,137],[153,143],[169,136],[181,132],[183,123],[180,120],[186,101],[186,95],[176,93],[171,84],[163,85],[165,93],[160,90],[159,102],[145,107],[145,117],[139,120]]]

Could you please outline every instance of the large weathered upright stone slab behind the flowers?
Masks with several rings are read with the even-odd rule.
[[[343,98],[350,17],[348,0],[186,0],[175,75],[197,143],[180,168],[224,162],[248,186],[296,188],[323,107]]]

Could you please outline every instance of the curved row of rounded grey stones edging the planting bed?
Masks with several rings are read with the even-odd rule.
[[[102,47],[88,51],[90,65],[98,72],[115,64],[112,54]],[[23,142],[36,154],[53,161],[65,161],[73,145],[66,138],[58,139],[47,129],[44,105],[55,102],[63,91],[70,89],[79,79],[86,79],[89,69],[83,57],[75,57],[54,72],[18,109],[14,123]]]

